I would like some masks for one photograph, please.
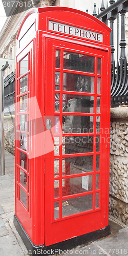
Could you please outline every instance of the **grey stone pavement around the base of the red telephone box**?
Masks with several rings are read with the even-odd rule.
[[[28,255],[28,251],[20,239],[13,224],[15,212],[14,156],[5,152],[5,172],[0,176],[0,255]],[[110,217],[111,234],[87,246],[79,246],[62,255],[128,255],[128,227]],[[39,254],[39,253],[38,253]]]

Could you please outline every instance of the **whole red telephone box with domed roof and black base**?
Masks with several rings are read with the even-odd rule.
[[[14,224],[42,254],[110,233],[110,31],[56,6],[17,34]]]

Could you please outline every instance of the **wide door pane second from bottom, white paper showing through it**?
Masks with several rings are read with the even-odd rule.
[[[65,187],[62,188],[62,197],[84,193],[92,190],[93,175],[62,179],[62,182],[65,182]]]

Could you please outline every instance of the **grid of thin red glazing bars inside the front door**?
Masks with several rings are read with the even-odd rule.
[[[62,112],[62,107],[64,105],[66,105],[66,97],[71,95],[72,98],[74,97],[79,97],[80,96],[93,96],[93,100],[94,100],[94,105],[93,105],[93,112],[90,111],[90,112],[73,112],[71,111],[70,112],[70,116],[88,116],[90,118],[93,118],[93,125],[95,126],[95,129],[92,131],[92,133],[89,133],[89,131],[87,131],[87,133],[70,133],[70,132],[65,132],[65,129],[63,130],[63,133],[62,133],[62,136],[59,137],[59,143],[56,143],[55,146],[59,146],[59,155],[56,155],[54,157],[55,161],[59,161],[59,171],[55,173],[55,182],[57,182],[56,184],[59,184],[58,187],[55,187],[55,189],[58,189],[59,192],[58,193],[58,198],[55,198],[54,199],[54,202],[56,202],[58,205],[57,207],[55,207],[55,211],[58,210],[58,216],[57,218],[54,216],[54,220],[57,221],[57,219],[61,220],[63,217],[67,217],[72,215],[72,214],[65,214],[63,213],[63,207],[68,207],[69,205],[69,202],[68,202],[68,199],[74,199],[74,198],[78,198],[79,196],[81,197],[82,199],[82,196],[92,196],[92,207],[91,209],[89,209],[90,211],[91,210],[98,210],[97,205],[99,204],[98,201],[96,201],[96,196],[95,196],[95,191],[97,193],[99,193],[99,188],[97,187],[96,188],[96,175],[99,175],[100,173],[100,170],[99,167],[96,167],[99,163],[97,162],[98,160],[96,160],[96,143],[94,143],[93,141],[93,152],[91,151],[91,153],[87,153],[87,152],[84,152],[84,153],[75,153],[75,154],[66,154],[66,142],[65,142],[65,137],[67,136],[67,138],[70,136],[74,136],[75,138],[79,137],[80,135],[81,136],[84,136],[87,135],[91,135],[91,136],[94,136],[94,138],[96,138],[96,133],[98,133],[98,135],[100,135],[100,131],[99,131],[99,127],[100,127],[100,123],[99,123],[99,120],[100,120],[100,116],[101,114],[98,113],[97,115],[97,118],[96,118],[96,108],[99,107],[99,105],[97,106],[97,99],[99,100],[100,98],[96,98],[94,97],[97,93],[97,96],[100,96],[100,88],[97,89],[97,79],[99,79],[101,77],[101,74],[98,72],[98,75],[97,75],[97,68],[99,69],[99,66],[101,68],[101,65],[99,65],[99,62],[98,62],[98,65],[97,65],[97,57],[94,57],[94,73],[91,73],[91,72],[83,72],[83,71],[79,71],[79,70],[73,70],[73,69],[66,69],[65,68],[65,63],[63,62],[63,50],[60,51],[61,52],[61,55],[57,55],[57,58],[58,58],[58,61],[59,61],[59,64],[56,64],[56,68],[55,68],[55,71],[56,72],[59,72],[59,90],[55,90],[55,93],[57,94],[58,93],[58,102],[59,102],[59,120],[62,120],[62,114],[63,116],[65,117],[68,117],[69,116],[69,112],[68,111],[63,111]],[[59,54],[60,54],[59,52]],[[58,54],[58,52],[57,52]],[[65,52],[64,52],[65,54]],[[68,52],[69,54],[69,52]],[[93,56],[91,56],[93,57]],[[64,63],[64,67],[63,67],[63,63]],[[57,66],[58,65],[58,66]],[[95,82],[94,82],[94,86],[93,86],[93,90],[90,91],[90,92],[83,92],[82,89],[81,91],[72,91],[72,90],[67,90],[67,81],[66,81],[66,77],[64,79],[63,77],[63,73],[65,73],[65,76],[67,76],[67,74],[75,74],[75,75],[79,75],[79,76],[82,76],[82,75],[86,75],[87,77],[92,77],[93,79],[95,79]],[[57,73],[56,73],[57,74]],[[82,77],[81,77],[82,78]],[[63,84],[62,84],[63,83]],[[55,82],[55,84],[57,84]],[[56,89],[56,88],[55,88]],[[65,94],[65,98],[62,96],[62,93],[63,95]],[[75,96],[74,96],[75,95]],[[56,99],[56,98],[55,98]],[[57,100],[56,100],[57,101]],[[63,102],[62,102],[63,101]],[[55,115],[57,115],[57,113],[55,113]],[[98,119],[98,120],[97,120]],[[97,127],[96,127],[96,124],[97,124]],[[55,135],[56,136],[56,135]],[[61,139],[62,138],[62,139]],[[61,141],[60,141],[61,139]],[[63,153],[63,155],[62,155]],[[62,166],[62,161],[66,162],[66,158],[76,158],[76,157],[83,157],[83,156],[92,156],[93,157],[93,170],[92,172],[90,173],[86,173],[86,174],[68,174],[67,173],[67,166],[66,164]],[[59,157],[59,158],[58,158]],[[64,157],[64,158],[63,158]],[[69,167],[70,168],[70,167]],[[97,169],[97,171],[96,171]],[[70,172],[70,170],[69,170]],[[59,175],[58,177],[56,175]],[[67,195],[67,196],[62,196],[62,189],[66,189],[66,181],[67,180],[70,180],[70,179],[73,179],[73,178],[80,178],[82,179],[83,177],[85,177],[86,179],[84,180],[85,184],[83,185],[84,187],[88,188],[88,180],[90,177],[93,177],[93,182],[92,182],[92,188],[91,188],[91,191],[87,191],[87,192],[83,192],[83,193],[78,193],[78,194],[72,194],[72,195]],[[65,181],[63,183],[63,181]],[[99,181],[98,181],[99,182]],[[100,183],[100,182],[99,182]],[[69,182],[67,183],[69,184]],[[96,193],[96,194],[97,194]],[[98,194],[97,194],[98,195]],[[96,207],[95,207],[96,205]],[[85,211],[88,211],[88,209],[86,209]],[[75,212],[75,214],[78,214],[78,212]]]

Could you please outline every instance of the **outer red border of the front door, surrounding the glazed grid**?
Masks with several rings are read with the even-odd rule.
[[[46,246],[65,241],[67,239],[80,236],[84,233],[89,233],[94,230],[104,228],[108,225],[108,199],[109,199],[109,144],[106,146],[106,140],[109,138],[109,127],[110,127],[110,95],[109,95],[109,82],[108,78],[108,59],[110,58],[110,53],[107,50],[95,49],[94,45],[80,46],[78,42],[76,44],[70,44],[65,41],[59,41],[55,39],[46,39],[46,83],[45,83],[45,115],[47,117],[54,116],[54,81],[55,81],[55,70],[60,71],[60,80],[62,81],[62,64],[60,69],[55,69],[55,48],[66,49],[67,51],[76,51],[83,53],[91,53],[93,56],[102,57],[102,86],[101,86],[101,113],[98,116],[101,117],[100,128],[102,128],[102,134],[98,133],[103,140],[100,144],[100,208],[91,210],[88,212],[82,212],[76,216],[69,216],[54,220],[54,151],[51,148],[51,152],[45,155],[45,244]],[[52,60],[51,60],[52,59]],[[61,54],[62,63],[62,54]],[[103,69],[103,66],[105,69]],[[95,62],[95,84],[96,84],[96,62]],[[61,82],[60,82],[61,83]],[[50,84],[50,90],[49,90]],[[51,87],[52,84],[52,87]],[[103,86],[105,84],[105,86]],[[96,91],[95,91],[96,92]],[[69,92],[70,93],[70,92]],[[62,103],[60,102],[60,105]],[[96,109],[96,96],[94,101],[94,108]],[[61,110],[60,110],[61,112]],[[56,115],[56,114],[55,114]],[[62,113],[60,113],[62,118]],[[87,115],[87,114],[86,114]],[[96,126],[96,115],[94,115],[94,126]],[[53,134],[53,129],[51,130]],[[73,134],[74,135],[74,134]],[[78,135],[78,134],[77,134]],[[96,135],[96,130],[94,130],[93,135]],[[47,133],[45,140],[48,145],[51,134]],[[83,136],[83,134],[79,134]],[[94,159],[96,156],[94,145],[93,153],[86,153],[83,155],[93,155]],[[48,152],[48,151],[47,151]],[[61,155],[61,146],[60,146]],[[74,155],[71,155],[74,156]],[[78,154],[80,156],[80,154]],[[101,160],[102,158],[102,160]],[[96,162],[94,160],[94,166]],[[95,172],[94,172],[95,173]],[[95,174],[94,174],[95,175]],[[61,179],[59,177],[58,179]],[[95,192],[95,179],[93,180],[93,191]],[[66,199],[66,198],[64,198]],[[61,200],[61,199],[60,199]],[[56,201],[56,199],[55,199]],[[95,207],[95,202],[93,201],[93,207]],[[106,211],[105,211],[106,207]],[[105,212],[105,219],[104,219]],[[99,220],[99,221],[98,221]]]

